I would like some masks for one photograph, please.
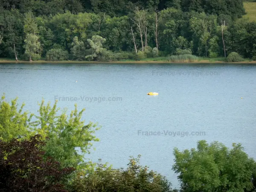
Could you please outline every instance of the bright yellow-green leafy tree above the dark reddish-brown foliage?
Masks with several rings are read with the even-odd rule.
[[[46,141],[44,157],[52,157],[61,163],[62,168],[91,171],[93,164],[84,157],[90,153],[92,142],[99,141],[93,134],[100,127],[92,122],[84,125],[81,117],[85,109],[78,111],[76,105],[70,115],[67,115],[67,109],[57,115],[57,101],[52,107],[50,102],[44,105],[44,100],[39,105],[39,115],[32,114],[28,118],[28,112],[22,113],[24,104],[17,111],[17,99],[9,105],[3,96],[0,100],[0,140],[10,141],[17,137],[29,139],[32,135],[40,134]],[[34,121],[31,121],[32,117]]]

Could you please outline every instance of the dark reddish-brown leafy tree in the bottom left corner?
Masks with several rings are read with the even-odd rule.
[[[74,169],[61,169],[50,157],[45,161],[44,151],[41,151],[43,145],[45,142],[40,135],[24,141],[0,140],[0,191],[67,192],[61,180]]]

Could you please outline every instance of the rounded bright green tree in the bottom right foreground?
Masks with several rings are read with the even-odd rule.
[[[198,142],[197,149],[174,150],[173,170],[179,174],[184,192],[249,191],[253,189],[255,162],[241,144],[228,149],[222,143]]]

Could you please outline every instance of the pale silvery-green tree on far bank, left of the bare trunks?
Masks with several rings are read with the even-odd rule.
[[[93,35],[92,39],[87,39],[87,42],[92,50],[92,54],[85,56],[85,58],[94,60],[96,57],[98,57],[103,51],[102,44],[104,44],[105,41],[106,39],[99,35]]]

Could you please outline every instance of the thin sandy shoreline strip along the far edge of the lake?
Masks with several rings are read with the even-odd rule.
[[[81,64],[88,64],[88,63],[98,63],[98,64],[111,64],[111,63],[134,63],[134,64],[149,64],[149,63],[162,63],[162,64],[256,64],[256,61],[241,61],[241,62],[225,62],[225,61],[210,61],[210,60],[202,60],[202,61],[194,61],[194,62],[169,62],[169,61],[45,61],[45,60],[39,60],[39,61],[15,61],[15,60],[0,60],[0,63],[26,63],[26,64],[39,64],[39,63],[49,63],[49,64],[58,64],[58,63],[81,63]]]

